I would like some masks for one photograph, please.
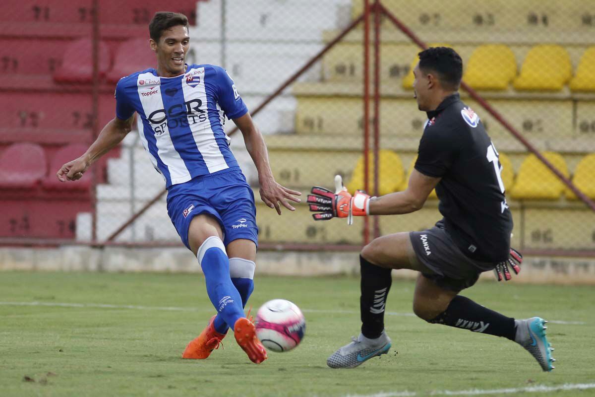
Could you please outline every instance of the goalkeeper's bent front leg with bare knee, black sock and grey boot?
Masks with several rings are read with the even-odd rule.
[[[359,256],[361,271],[361,333],[328,360],[331,368],[353,368],[385,354],[391,346],[384,332],[384,308],[392,285],[392,269],[427,270],[415,259],[409,233],[396,233],[372,240]]]

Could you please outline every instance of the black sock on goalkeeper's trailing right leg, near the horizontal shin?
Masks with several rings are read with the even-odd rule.
[[[510,340],[515,340],[516,335],[514,318],[506,317],[460,295],[455,296],[446,310],[428,323],[503,336]]]

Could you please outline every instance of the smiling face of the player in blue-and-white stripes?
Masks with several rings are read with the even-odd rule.
[[[173,26],[164,30],[159,43],[151,40],[151,48],[157,54],[158,71],[167,76],[179,76],[186,71],[186,54],[190,46],[190,37],[185,26]]]

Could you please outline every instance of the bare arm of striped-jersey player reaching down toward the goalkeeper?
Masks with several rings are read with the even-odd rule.
[[[271,171],[271,166],[268,162],[267,145],[262,138],[262,134],[253,123],[250,114],[246,113],[242,117],[234,118],[233,122],[242,131],[246,149],[248,149],[248,153],[252,157],[254,165],[256,165],[256,170],[258,170],[258,182],[260,184],[262,201],[268,207],[275,208],[279,215],[281,215],[281,206],[279,203],[283,204],[288,210],[295,211],[295,208],[289,204],[289,200],[300,202],[301,200],[295,196],[301,196],[302,193],[287,189],[287,187],[281,186],[275,181],[273,171]]]

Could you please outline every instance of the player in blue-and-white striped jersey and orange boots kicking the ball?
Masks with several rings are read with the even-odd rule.
[[[250,118],[233,80],[215,65],[187,65],[188,20],[182,14],[157,12],[149,24],[157,68],[123,77],[115,89],[116,117],[76,160],[57,173],[62,182],[80,179],[99,157],[137,129],[152,164],[165,180],[167,211],[182,242],[198,258],[206,290],[217,310],[183,358],[207,358],[229,328],[257,364],[267,353],[243,308],[253,290],[256,208],[224,133],[225,118],[239,127],[258,170],[260,195],[281,214],[281,205],[301,193],[275,182],[264,139]]]

